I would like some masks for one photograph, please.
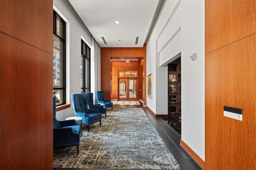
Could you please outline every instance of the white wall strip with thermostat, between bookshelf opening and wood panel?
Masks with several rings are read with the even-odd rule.
[[[182,11],[182,141],[204,160],[204,0],[182,0]]]

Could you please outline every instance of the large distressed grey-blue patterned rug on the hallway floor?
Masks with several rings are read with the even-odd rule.
[[[54,168],[180,170],[142,108],[113,108],[102,126],[83,126],[76,147],[54,148]]]

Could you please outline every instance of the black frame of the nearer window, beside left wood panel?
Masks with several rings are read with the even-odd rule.
[[[57,35],[57,21],[62,22],[62,37]],[[53,10],[53,37],[62,42],[62,87],[53,87],[53,90],[62,90],[62,103],[56,106],[66,104],[66,22]],[[57,63],[56,63],[57,64]]]

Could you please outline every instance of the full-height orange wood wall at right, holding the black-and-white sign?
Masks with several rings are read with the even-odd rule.
[[[256,1],[205,0],[205,49],[205,169],[255,169]]]

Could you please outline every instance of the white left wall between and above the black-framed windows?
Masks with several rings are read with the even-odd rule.
[[[92,35],[82,23],[76,12],[67,0],[54,0],[54,10],[66,21],[66,104],[71,104],[71,94],[81,93],[81,37],[89,46],[92,46]],[[91,56],[92,59],[94,56]],[[91,68],[94,68],[93,66]],[[70,108],[57,111],[56,117],[64,120],[74,116],[74,110]]]

